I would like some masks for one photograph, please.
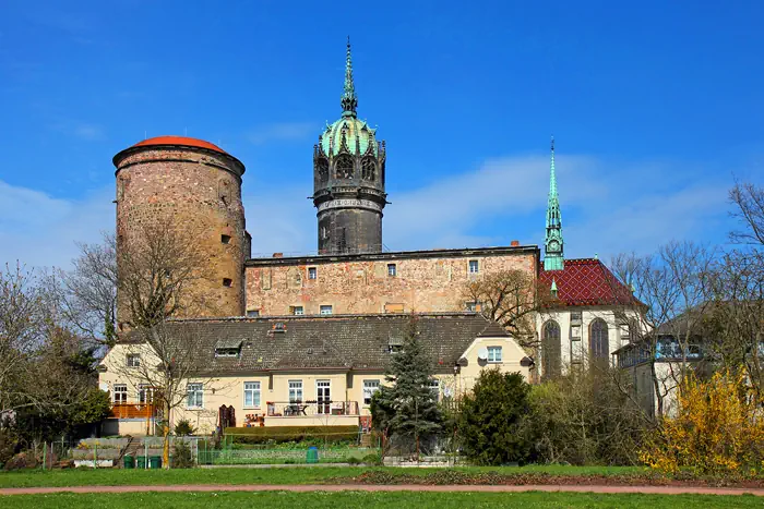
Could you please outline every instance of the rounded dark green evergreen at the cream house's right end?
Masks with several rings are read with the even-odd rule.
[[[523,462],[530,453],[525,429],[530,386],[520,373],[484,369],[462,400],[459,436],[478,464]]]

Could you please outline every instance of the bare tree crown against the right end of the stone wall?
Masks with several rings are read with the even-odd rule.
[[[508,269],[469,281],[461,301],[501,324],[521,347],[530,349],[538,346],[535,313],[541,308],[547,295],[550,293],[538,289],[532,275]]]

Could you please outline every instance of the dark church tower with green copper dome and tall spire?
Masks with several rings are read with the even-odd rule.
[[[353,82],[350,38],[347,40],[345,89],[339,120],[327,124],[313,146],[313,205],[318,209],[319,253],[382,251],[384,142],[358,119]]]

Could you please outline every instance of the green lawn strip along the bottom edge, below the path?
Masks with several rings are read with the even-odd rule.
[[[3,504],[4,502],[4,504]],[[762,499],[753,496],[706,495],[595,495],[573,493],[141,493],[141,494],[56,494],[13,495],[0,497],[0,506],[17,509],[67,509],[108,507],[114,509],[138,507],[210,508],[210,507],[310,507],[310,508],[463,508],[523,507],[523,508],[681,508],[708,509],[762,507]]]

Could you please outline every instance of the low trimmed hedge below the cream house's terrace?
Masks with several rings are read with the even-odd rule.
[[[232,444],[266,441],[346,441],[358,438],[358,426],[256,426],[227,427],[224,431]]]

